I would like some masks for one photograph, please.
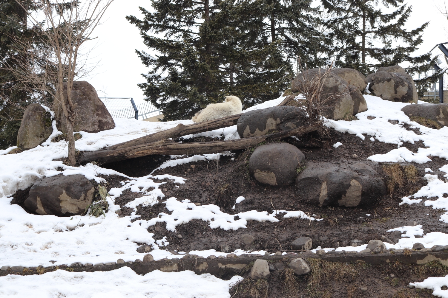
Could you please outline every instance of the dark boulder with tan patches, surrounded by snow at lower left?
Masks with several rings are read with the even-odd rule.
[[[34,183],[24,205],[40,215],[81,215],[94,193],[95,188],[83,175],[52,176]]]

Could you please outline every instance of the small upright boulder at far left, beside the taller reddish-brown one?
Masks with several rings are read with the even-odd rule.
[[[30,104],[25,110],[17,134],[17,147],[31,149],[45,142],[52,134],[51,114],[39,104]]]

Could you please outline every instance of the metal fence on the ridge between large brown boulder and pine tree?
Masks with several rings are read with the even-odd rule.
[[[132,97],[99,97],[112,118],[135,118],[143,120],[160,115],[160,110],[149,102],[136,105]]]

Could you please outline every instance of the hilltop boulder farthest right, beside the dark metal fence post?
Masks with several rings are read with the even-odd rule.
[[[378,71],[367,76],[369,91],[386,101],[418,101],[414,80],[399,65],[379,67]]]

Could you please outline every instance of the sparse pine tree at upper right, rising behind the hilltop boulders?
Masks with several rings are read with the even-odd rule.
[[[430,54],[411,54],[423,42],[428,22],[413,30],[404,29],[412,6],[403,0],[321,0],[327,18],[328,37],[334,41],[335,65],[354,68],[368,75],[378,67],[401,63],[410,75],[431,69]],[[383,10],[388,10],[385,13]],[[433,79],[433,78],[432,78]],[[432,80],[430,79],[430,80]],[[416,81],[421,90],[427,82]]]

